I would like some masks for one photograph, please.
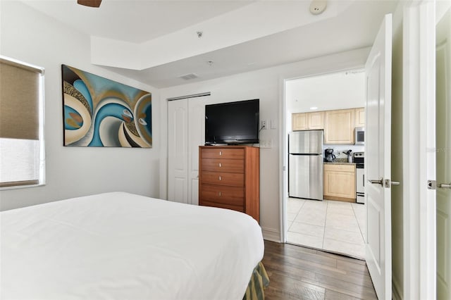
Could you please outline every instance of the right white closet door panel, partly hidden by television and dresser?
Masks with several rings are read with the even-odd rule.
[[[209,97],[188,99],[188,203],[199,204],[199,146],[205,144],[205,104]]]

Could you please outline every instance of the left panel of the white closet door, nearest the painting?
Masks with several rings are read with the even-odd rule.
[[[168,102],[168,200],[188,203],[188,101]]]

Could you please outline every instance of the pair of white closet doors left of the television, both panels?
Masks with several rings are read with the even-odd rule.
[[[168,200],[199,204],[199,146],[208,96],[168,102]]]

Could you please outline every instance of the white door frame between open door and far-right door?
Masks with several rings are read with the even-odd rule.
[[[403,296],[435,299],[435,1],[403,19]]]

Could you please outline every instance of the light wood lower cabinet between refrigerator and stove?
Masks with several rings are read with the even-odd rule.
[[[328,200],[355,202],[355,165],[325,163],[323,197]]]

